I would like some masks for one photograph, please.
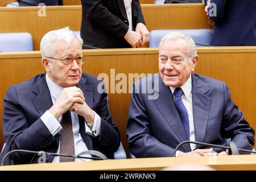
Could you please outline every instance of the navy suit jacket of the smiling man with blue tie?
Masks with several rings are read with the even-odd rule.
[[[154,89],[154,94],[159,94],[156,100],[148,100],[152,95],[149,92],[131,95],[126,134],[130,151],[137,158],[173,156],[176,146],[187,140],[170,88],[164,85],[159,74],[154,77],[135,82],[133,90],[143,88],[146,78],[148,88],[151,88],[151,83],[156,85],[159,81],[159,89],[158,86]],[[226,146],[226,138],[231,138],[238,148],[253,148],[254,130],[232,102],[224,82],[192,73],[192,100],[197,142]],[[217,152],[223,150],[213,149]],[[185,144],[179,150],[189,152],[191,148]]]

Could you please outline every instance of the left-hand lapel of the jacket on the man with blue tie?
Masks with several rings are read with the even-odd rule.
[[[187,140],[187,135],[183,123],[180,119],[180,115],[174,105],[174,97],[172,96],[171,90],[168,86],[164,85],[164,82],[159,76],[159,97],[155,100],[156,106],[166,119],[168,125],[174,130],[180,142]],[[191,151],[189,144],[183,145],[187,151]],[[183,147],[181,146],[181,148]]]

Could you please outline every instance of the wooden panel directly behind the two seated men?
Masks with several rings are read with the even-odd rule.
[[[240,107],[250,125],[256,129],[256,47],[211,47],[198,48],[199,63],[196,73],[225,81],[229,86],[233,101]],[[130,85],[138,80],[139,75],[158,72],[158,49],[98,49],[84,50],[86,56],[82,70],[94,76],[106,73],[110,82],[118,80],[118,73],[127,77],[127,93],[110,93],[109,108],[113,121],[121,131],[123,146],[126,151],[126,122],[129,112]],[[44,73],[38,51],[0,53],[0,101],[3,101],[6,90],[10,85],[17,84],[39,73]],[[129,73],[138,73],[137,77],[129,78]],[[120,75],[119,75],[120,76]],[[245,89],[246,88],[246,89]],[[0,118],[3,114],[3,105],[0,104]],[[2,121],[2,120],[1,120]],[[0,125],[0,148],[4,143],[2,125]]]

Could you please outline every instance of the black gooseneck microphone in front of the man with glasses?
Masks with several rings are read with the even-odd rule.
[[[70,155],[70,154],[56,154],[56,153],[51,153],[51,152],[44,152],[44,151],[30,151],[30,150],[12,150],[10,152],[8,152],[2,159],[1,162],[1,166],[5,165],[5,160],[11,155],[11,154],[15,154],[15,153],[20,153],[20,154],[44,154],[44,155],[52,155],[52,156],[64,156],[64,157],[69,157],[69,158],[82,158],[82,159],[94,159],[94,160],[106,160],[108,159],[104,154],[102,154],[99,151],[95,151],[95,150],[88,150],[85,152],[81,152],[78,155]],[[89,155],[93,155],[96,157],[85,157],[85,156],[81,156],[84,154],[89,154]]]

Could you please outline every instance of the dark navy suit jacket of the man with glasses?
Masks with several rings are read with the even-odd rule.
[[[46,75],[38,75],[25,82],[10,86],[3,100],[3,134],[7,146],[1,154],[3,156],[16,149],[57,152],[59,134],[52,136],[40,117],[52,106],[51,95],[46,83]],[[117,125],[112,122],[108,109],[106,93],[98,93],[100,83],[96,77],[82,73],[79,87],[86,98],[86,104],[101,117],[101,131],[98,137],[93,138],[85,133],[85,120],[79,115],[80,134],[88,150],[97,150],[108,158],[120,144]],[[33,155],[11,155],[6,164],[30,163]],[[38,155],[31,163],[38,163]],[[47,156],[46,162],[51,162],[53,156]]]

